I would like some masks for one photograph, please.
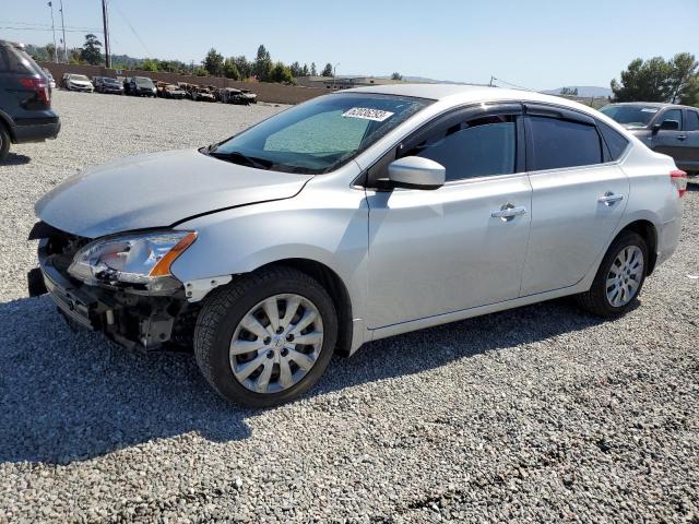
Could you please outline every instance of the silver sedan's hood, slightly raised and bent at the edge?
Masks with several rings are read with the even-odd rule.
[[[121,158],[69,178],[36,203],[45,223],[87,238],[296,195],[312,175],[265,171],[198,150]]]

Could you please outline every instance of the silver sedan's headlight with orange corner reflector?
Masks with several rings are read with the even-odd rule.
[[[194,231],[152,231],[95,240],[68,272],[86,284],[134,284],[152,293],[179,287],[170,265],[197,239]]]

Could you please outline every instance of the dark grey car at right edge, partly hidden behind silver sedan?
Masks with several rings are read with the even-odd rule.
[[[651,150],[699,175],[699,108],[659,103],[609,104],[600,109]]]

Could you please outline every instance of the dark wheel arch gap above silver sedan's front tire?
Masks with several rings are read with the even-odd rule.
[[[340,275],[328,265],[311,259],[291,258],[266,263],[256,271],[274,265],[294,267],[318,281],[328,291],[337,312],[337,346],[335,353],[347,357],[352,349],[352,300],[347,286]]]

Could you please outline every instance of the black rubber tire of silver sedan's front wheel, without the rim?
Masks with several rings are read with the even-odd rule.
[[[296,294],[318,309],[323,343],[313,367],[293,386],[257,393],[242,385],[229,362],[230,341],[238,323],[257,303],[279,294]],[[313,278],[286,266],[272,266],[244,275],[214,289],[205,299],[194,327],[194,355],[206,381],[224,398],[245,407],[270,407],[303,395],[323,374],[337,338],[337,313],[325,289]]]

